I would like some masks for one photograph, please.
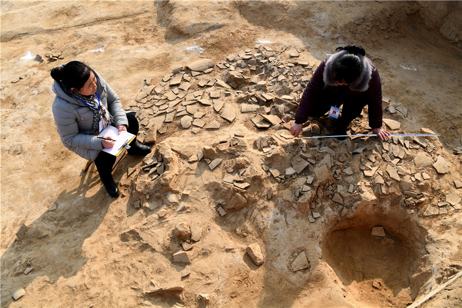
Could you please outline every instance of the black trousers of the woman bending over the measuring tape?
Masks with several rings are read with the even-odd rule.
[[[316,98],[310,111],[310,117],[321,118],[326,112],[329,112],[331,106],[342,106],[341,116],[337,120],[337,126],[347,128],[350,123],[359,117],[362,109],[368,104],[367,95],[361,93],[351,97],[341,98],[331,91],[323,89]]]

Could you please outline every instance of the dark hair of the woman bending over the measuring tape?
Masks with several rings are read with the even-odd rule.
[[[362,47],[356,45],[348,45],[335,49],[337,52],[342,50],[347,51],[347,53],[335,61],[332,66],[332,75],[336,81],[345,81],[345,83],[351,84],[361,74],[362,61],[358,55],[364,56],[365,51]]]

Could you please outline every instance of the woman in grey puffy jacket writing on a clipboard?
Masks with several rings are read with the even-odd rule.
[[[97,138],[108,125],[138,134],[138,120],[125,113],[119,97],[101,76],[88,65],[72,61],[51,70],[56,98],[53,116],[64,146],[77,155],[94,161],[101,181],[111,197],[120,195],[112,178],[115,156],[102,151],[114,142]],[[107,139],[111,139],[107,137]],[[151,148],[133,140],[128,154],[147,155]]]

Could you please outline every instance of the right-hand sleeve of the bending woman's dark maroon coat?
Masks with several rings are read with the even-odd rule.
[[[369,112],[369,126],[371,128],[382,127],[382,84],[380,82],[380,75],[377,68],[372,72],[372,78],[369,82],[368,93],[368,112]]]

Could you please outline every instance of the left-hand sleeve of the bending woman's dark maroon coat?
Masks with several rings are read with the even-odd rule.
[[[315,98],[321,92],[324,87],[324,80],[322,75],[324,73],[326,60],[322,61],[321,64],[316,69],[312,78],[306,85],[305,90],[303,91],[300,104],[298,105],[297,112],[295,113],[295,123],[305,123],[310,116],[310,111],[315,101]]]

